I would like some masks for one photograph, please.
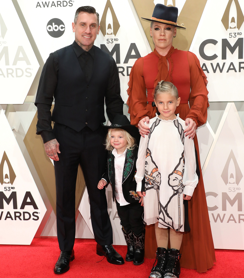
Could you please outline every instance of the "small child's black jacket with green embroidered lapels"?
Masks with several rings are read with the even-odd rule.
[[[138,202],[140,197],[136,192],[136,160],[138,154],[138,147],[134,150],[127,150],[125,155],[123,177],[122,177],[122,192],[125,200],[128,203]],[[106,172],[102,176],[108,183],[111,183],[113,190],[113,200],[115,197],[115,170],[114,170],[114,155],[112,151],[107,155],[107,167]]]

